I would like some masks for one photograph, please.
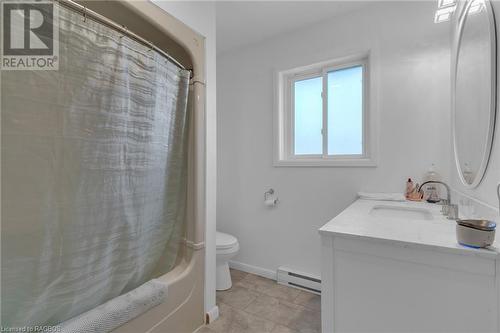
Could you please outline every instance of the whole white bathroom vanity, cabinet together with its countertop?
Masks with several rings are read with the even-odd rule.
[[[404,220],[372,217],[377,204],[320,229],[322,332],[499,332],[498,252],[458,245],[432,205],[397,203],[433,217]]]

